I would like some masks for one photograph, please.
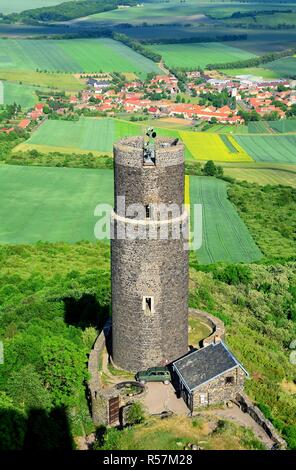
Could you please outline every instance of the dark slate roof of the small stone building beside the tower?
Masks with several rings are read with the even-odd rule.
[[[223,341],[210,343],[173,363],[173,368],[189,391],[235,368],[248,372],[227,349]]]

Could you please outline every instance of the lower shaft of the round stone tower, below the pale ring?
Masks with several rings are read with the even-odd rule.
[[[136,372],[186,354],[188,261],[182,242],[116,240],[111,257],[114,362]],[[154,297],[154,314],[143,312],[143,295]]]

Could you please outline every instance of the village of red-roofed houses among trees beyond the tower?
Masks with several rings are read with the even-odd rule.
[[[296,115],[296,81],[235,79],[211,71],[148,76],[127,80],[122,74],[80,75],[78,94],[43,93],[26,113],[15,106],[0,124],[0,133],[30,132],[45,119],[78,120],[80,116],[120,117],[130,121],[174,118],[202,131],[205,124],[237,126],[248,121]]]

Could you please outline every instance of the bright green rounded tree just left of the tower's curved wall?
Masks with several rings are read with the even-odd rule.
[[[67,339],[48,337],[42,344],[43,378],[54,405],[70,406],[87,378],[86,351]]]

